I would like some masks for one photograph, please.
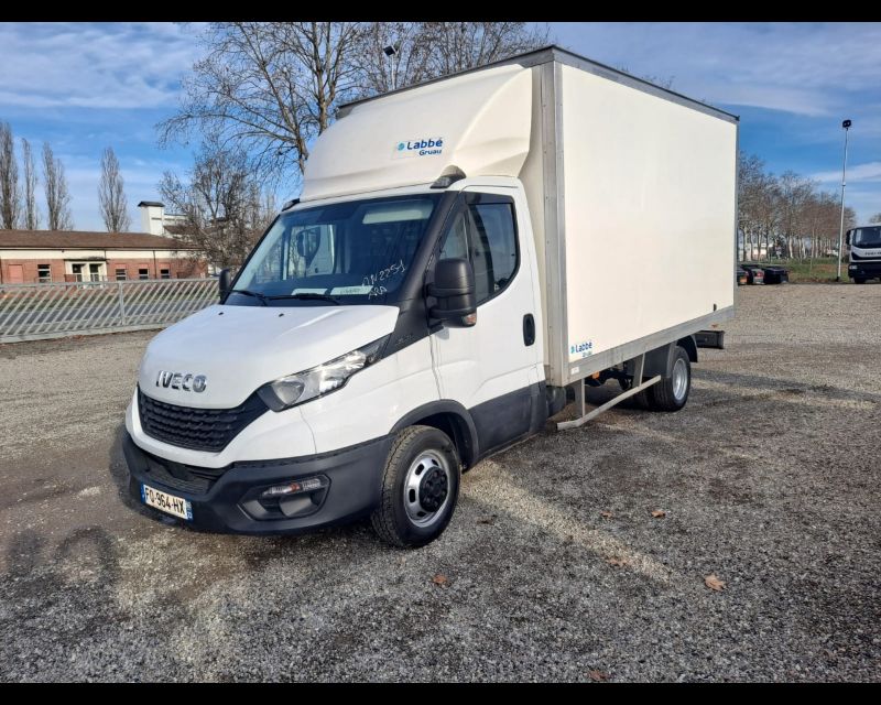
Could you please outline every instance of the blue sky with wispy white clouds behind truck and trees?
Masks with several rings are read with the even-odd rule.
[[[768,167],[841,185],[850,119],[847,205],[881,212],[881,23],[550,24],[552,39],[740,116],[740,147]],[[65,165],[74,224],[102,230],[100,155],[120,161],[132,218],[156,200],[164,171],[184,175],[192,149],[160,149],[181,78],[202,55],[197,23],[0,23],[0,121]],[[39,194],[39,196],[42,193]],[[296,194],[280,194],[282,197]],[[43,220],[45,224],[45,219]]]

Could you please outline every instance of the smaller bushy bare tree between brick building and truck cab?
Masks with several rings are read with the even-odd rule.
[[[240,265],[275,216],[275,204],[261,194],[253,173],[243,150],[224,150],[211,138],[188,183],[171,172],[160,182],[163,200],[184,216],[181,239],[213,264]]]

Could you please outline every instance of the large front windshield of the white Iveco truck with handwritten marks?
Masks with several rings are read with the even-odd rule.
[[[227,303],[382,303],[403,283],[439,199],[394,196],[282,214]]]

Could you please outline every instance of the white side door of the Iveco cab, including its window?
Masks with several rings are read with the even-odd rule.
[[[438,261],[466,258],[475,270],[477,323],[444,326],[432,345],[440,395],[469,410],[481,455],[529,433],[542,402],[531,249],[509,194],[464,191],[437,254]]]

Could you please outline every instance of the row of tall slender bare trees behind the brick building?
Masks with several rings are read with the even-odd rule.
[[[36,194],[40,178],[31,143],[24,138],[21,138],[20,152],[21,182],[12,128],[9,122],[0,122],[0,229],[39,230],[43,223]],[[43,142],[41,164],[46,229],[73,230],[70,192],[64,164],[55,156],[48,142]],[[131,227],[124,182],[112,148],[105,149],[101,154],[98,206],[108,232],[123,232]]]

